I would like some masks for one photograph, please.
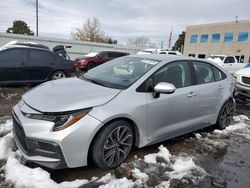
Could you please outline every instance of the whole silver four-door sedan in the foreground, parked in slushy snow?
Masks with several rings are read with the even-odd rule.
[[[133,146],[214,124],[227,127],[234,80],[205,60],[121,57],[81,78],[50,81],[24,94],[12,111],[14,140],[26,160],[49,168],[86,166],[89,160],[115,168]]]

